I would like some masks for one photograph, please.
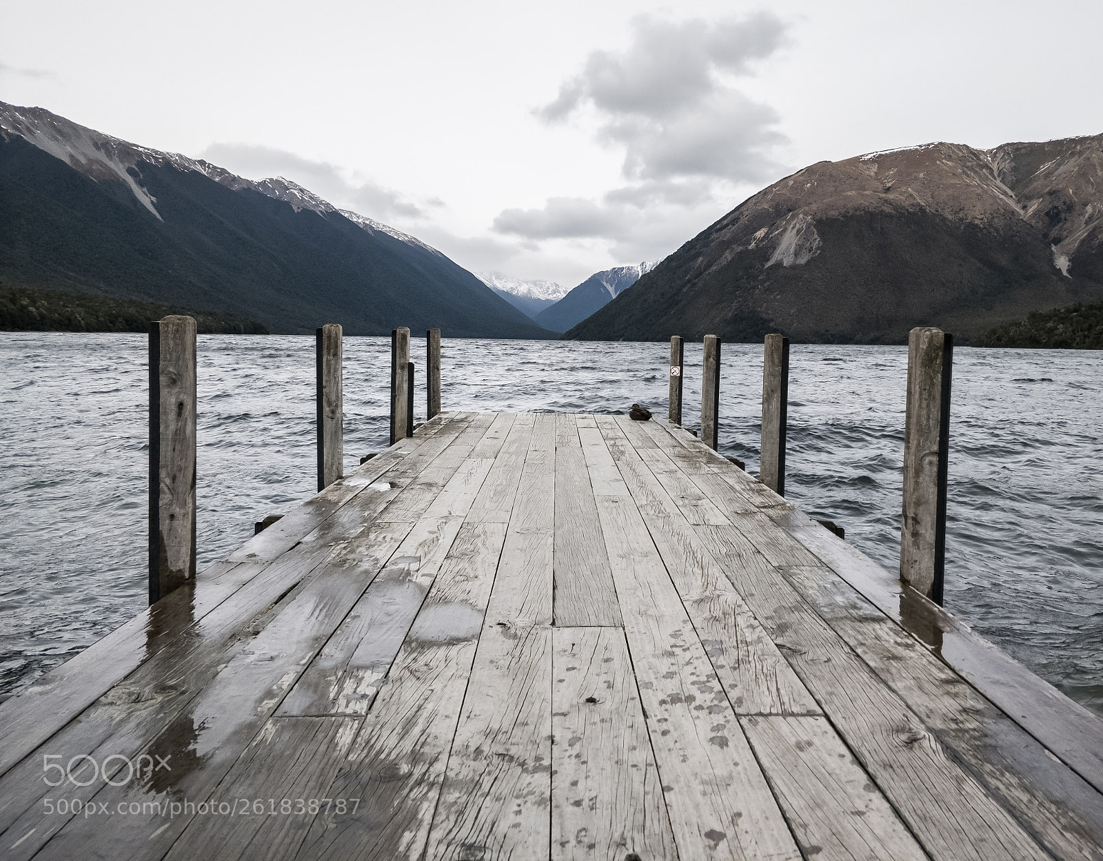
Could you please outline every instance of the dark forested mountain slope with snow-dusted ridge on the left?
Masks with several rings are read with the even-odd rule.
[[[280,177],[0,103],[0,280],[255,321],[275,333],[554,337],[428,245]]]

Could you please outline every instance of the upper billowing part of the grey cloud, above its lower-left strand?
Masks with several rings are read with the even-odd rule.
[[[770,149],[785,140],[773,128],[780,118],[725,76],[773,54],[785,41],[782,21],[767,12],[717,23],[642,17],[632,31],[625,51],[590,54],[537,115],[555,122],[592,105],[601,139],[624,147],[630,180],[767,174]]]

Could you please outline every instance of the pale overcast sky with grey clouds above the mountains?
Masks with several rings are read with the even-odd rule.
[[[572,287],[805,164],[1103,132],[1103,2],[0,0],[0,100]]]

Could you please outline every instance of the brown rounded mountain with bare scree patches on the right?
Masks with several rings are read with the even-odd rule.
[[[1103,134],[930,143],[797,171],[742,203],[565,337],[966,343],[1103,299]]]

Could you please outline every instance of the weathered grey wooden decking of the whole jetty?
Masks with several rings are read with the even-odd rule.
[[[625,417],[438,417],[0,738],[3,859],[1103,859],[1103,722]]]

